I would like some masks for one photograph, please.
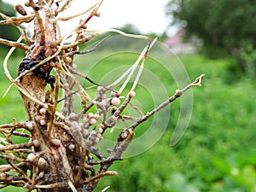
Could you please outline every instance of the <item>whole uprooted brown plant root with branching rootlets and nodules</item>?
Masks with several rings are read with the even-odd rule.
[[[161,108],[165,108],[184,91],[192,86],[201,85],[201,79],[204,77],[201,75],[183,90],[177,90],[166,102],[141,118],[123,115],[124,109],[131,104],[131,99],[135,96],[134,90],[143,70],[148,50],[154,45],[156,39],[151,41],[144,36],[107,30],[106,32],[119,32],[131,38],[144,38],[148,41],[148,45],[134,65],[113,84],[107,87],[96,84],[89,77],[75,71],[73,55],[86,54],[95,49],[80,52],[78,45],[99,35],[99,32],[86,30],[86,24],[92,17],[98,16],[97,10],[102,1],[81,14],[65,18],[58,17],[57,15],[67,9],[70,3],[70,0],[38,0],[38,3],[29,0],[26,6],[32,8],[31,15],[26,15],[21,5],[15,7],[22,14],[20,17],[9,18],[1,14],[4,20],[0,25],[19,27],[24,22],[34,22],[34,37],[29,39],[26,32],[23,32],[20,38],[20,40],[23,38],[26,44],[21,44],[20,40],[11,42],[0,39],[2,44],[26,50],[26,56],[20,61],[18,78],[13,79],[8,71],[7,61],[11,52],[4,61],[4,73],[20,90],[27,113],[26,123],[15,120],[13,124],[0,125],[0,158],[7,162],[7,165],[0,166],[2,188],[13,185],[26,188],[28,191],[37,189],[41,192],[92,191],[102,177],[117,174],[117,172],[108,171],[108,168],[114,160],[122,159],[122,154],[131,143],[137,125]],[[81,20],[73,32],[64,37],[57,33],[58,20],[71,20],[88,13],[89,15]],[[64,45],[67,38],[74,35],[76,40]],[[127,82],[135,73],[135,68],[140,61],[142,61],[140,70],[131,91],[125,101],[119,104],[119,96],[125,90]],[[55,76],[50,74],[52,70],[55,70]],[[98,96],[94,99],[90,98],[76,76],[95,84],[98,87]],[[125,79],[125,83],[119,91],[111,90],[121,79]],[[50,85],[49,89],[47,84]],[[61,98],[60,91],[62,91]],[[112,91],[110,97],[106,95],[108,91]],[[82,101],[83,110],[79,113],[74,111],[74,95],[78,95]],[[56,109],[58,105],[62,105],[61,112]],[[96,106],[96,113],[90,113],[92,106]],[[116,107],[113,108],[114,106]],[[131,106],[142,113],[136,106],[132,104]],[[119,119],[123,121],[131,119],[134,123],[131,126],[126,125],[124,130],[119,132],[114,147],[109,151],[109,156],[103,157],[96,144],[101,142],[105,131],[113,128]],[[15,143],[13,136],[24,138],[25,143]],[[100,168],[96,169],[96,166]]]

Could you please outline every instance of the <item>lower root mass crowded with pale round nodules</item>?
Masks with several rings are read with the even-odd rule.
[[[96,85],[91,89],[98,94],[90,98],[71,67],[55,69],[55,86],[45,90],[43,106],[31,102],[30,120],[0,125],[1,188],[13,185],[29,191],[92,191],[101,177],[117,174],[108,167],[122,159],[136,126],[124,124],[113,148],[104,152],[108,156],[103,157],[97,143],[118,120],[135,119],[122,116],[135,92],[131,90],[120,100],[119,92],[111,86]],[[74,110],[74,97],[81,102],[79,112]]]

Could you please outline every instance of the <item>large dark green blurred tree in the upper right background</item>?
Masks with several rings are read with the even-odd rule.
[[[187,38],[203,41],[212,58],[232,55],[236,70],[256,77],[256,4],[252,0],[171,0],[166,14],[172,25],[183,27]]]

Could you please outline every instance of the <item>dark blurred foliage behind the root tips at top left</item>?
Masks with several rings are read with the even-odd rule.
[[[4,15],[7,15],[9,17],[15,16],[15,9],[13,5],[10,5],[9,3],[4,3],[2,0],[0,0],[0,13],[3,13]],[[0,20],[3,20],[2,17],[0,17]],[[0,26],[0,38],[5,38],[8,40],[15,41],[20,37],[20,32],[15,26]],[[0,44],[1,52],[6,52],[9,49],[9,46]]]

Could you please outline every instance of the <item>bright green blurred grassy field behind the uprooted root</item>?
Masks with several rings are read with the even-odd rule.
[[[118,171],[119,176],[103,178],[95,191],[110,185],[110,192],[255,192],[255,81],[230,73],[229,68],[236,64],[232,59],[213,61],[201,55],[180,55],[180,61],[177,61],[171,55],[160,56],[166,61],[164,66],[177,62],[177,65],[173,65],[174,71],[178,63],[183,63],[192,80],[201,73],[206,74],[202,87],[193,89],[194,108],[189,129],[177,145],[170,146],[180,108],[180,102],[174,102],[170,121],[160,140],[143,154],[115,162],[111,170]],[[102,56],[98,55],[98,58]],[[104,82],[104,70],[111,71],[116,67],[131,65],[135,58],[135,55],[129,54],[113,55],[104,59],[104,67],[101,67],[100,60],[93,61],[93,55],[84,55],[77,62],[85,73],[90,70],[90,78],[99,83]],[[15,58],[9,61],[9,68],[14,76],[20,60],[21,58]],[[172,96],[176,84],[166,67],[154,59],[149,59],[147,69],[156,74],[166,86],[167,94]],[[2,98],[9,82],[3,77],[2,66],[0,70],[0,124],[10,123],[14,117],[24,121],[26,113],[18,91],[12,88]],[[107,82],[108,78],[105,79]],[[87,82],[84,84],[87,85]],[[153,89],[157,86],[153,82],[151,84]],[[150,103],[151,97],[147,94],[143,87],[138,88],[137,100],[140,101],[144,113],[153,107]],[[146,129],[147,124],[137,130],[137,135]]]

